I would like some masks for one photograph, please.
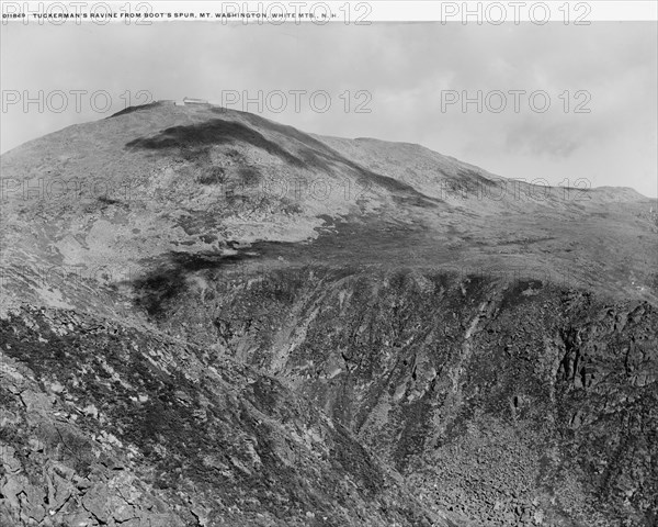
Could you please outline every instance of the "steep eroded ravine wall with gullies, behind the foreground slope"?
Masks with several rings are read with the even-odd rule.
[[[428,506],[476,525],[651,525],[651,304],[408,269],[206,283],[163,327],[282,379]]]

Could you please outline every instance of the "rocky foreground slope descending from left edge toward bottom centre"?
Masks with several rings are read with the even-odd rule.
[[[75,312],[1,335],[8,526],[454,525],[248,367]]]

